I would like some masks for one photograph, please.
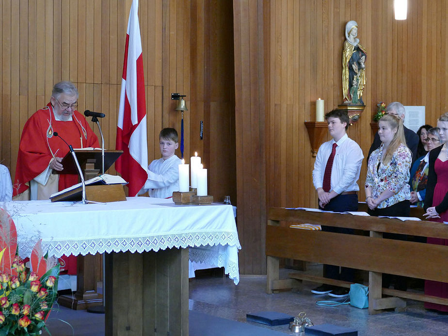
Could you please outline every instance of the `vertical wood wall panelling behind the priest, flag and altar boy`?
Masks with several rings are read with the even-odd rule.
[[[60,80],[77,85],[79,111],[106,114],[100,121],[105,146],[115,148],[131,3],[1,1],[0,161],[13,179],[22,128],[48,103]],[[236,202],[232,17],[232,3],[226,1],[139,1],[148,160],[160,158],[161,128],[174,127],[180,136],[181,117],[171,93],[187,95],[184,156],[188,162],[198,151],[209,169],[209,193],[216,200],[230,194]],[[204,140],[199,139],[200,120],[205,121]],[[91,127],[99,136],[96,125]]]

